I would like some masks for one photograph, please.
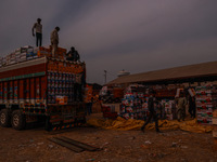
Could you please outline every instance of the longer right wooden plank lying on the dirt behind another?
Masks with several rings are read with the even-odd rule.
[[[85,150],[88,150],[88,151],[97,151],[97,150],[100,150],[99,148],[97,147],[93,147],[93,146],[90,146],[90,145],[87,145],[87,144],[84,144],[84,143],[80,143],[80,141],[77,141],[77,140],[74,140],[74,139],[71,139],[71,138],[67,138],[67,137],[64,137],[64,136],[61,136],[61,137],[58,137],[59,139],[63,140],[63,141],[66,141],[68,144],[72,144],[72,145],[75,145],[77,147],[80,147]]]

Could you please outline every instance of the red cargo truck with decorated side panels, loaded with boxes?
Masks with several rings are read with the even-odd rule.
[[[0,67],[1,126],[23,130],[28,123],[42,122],[47,131],[54,131],[86,122],[86,105],[75,98],[77,89],[84,93],[85,62],[53,58],[43,51]],[[77,78],[82,82],[78,84]]]

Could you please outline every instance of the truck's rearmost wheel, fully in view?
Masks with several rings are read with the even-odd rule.
[[[12,127],[15,130],[23,130],[26,126],[26,117],[21,110],[14,110],[11,117]]]

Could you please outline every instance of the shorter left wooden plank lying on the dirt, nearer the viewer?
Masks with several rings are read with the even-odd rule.
[[[61,145],[61,146],[63,146],[63,147],[66,147],[67,149],[73,150],[73,151],[75,151],[75,152],[81,152],[81,151],[84,151],[82,148],[77,147],[77,146],[74,146],[74,145],[72,145],[72,144],[68,144],[68,143],[63,141],[63,140],[61,140],[61,139],[58,139],[58,138],[55,138],[55,137],[49,138],[49,140],[50,140],[50,141],[53,141],[53,143],[55,143],[55,144],[58,144],[58,145]]]

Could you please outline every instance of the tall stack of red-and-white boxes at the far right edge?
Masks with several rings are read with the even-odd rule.
[[[213,111],[217,106],[217,86],[212,84],[196,86],[195,92],[197,123],[212,124]]]

